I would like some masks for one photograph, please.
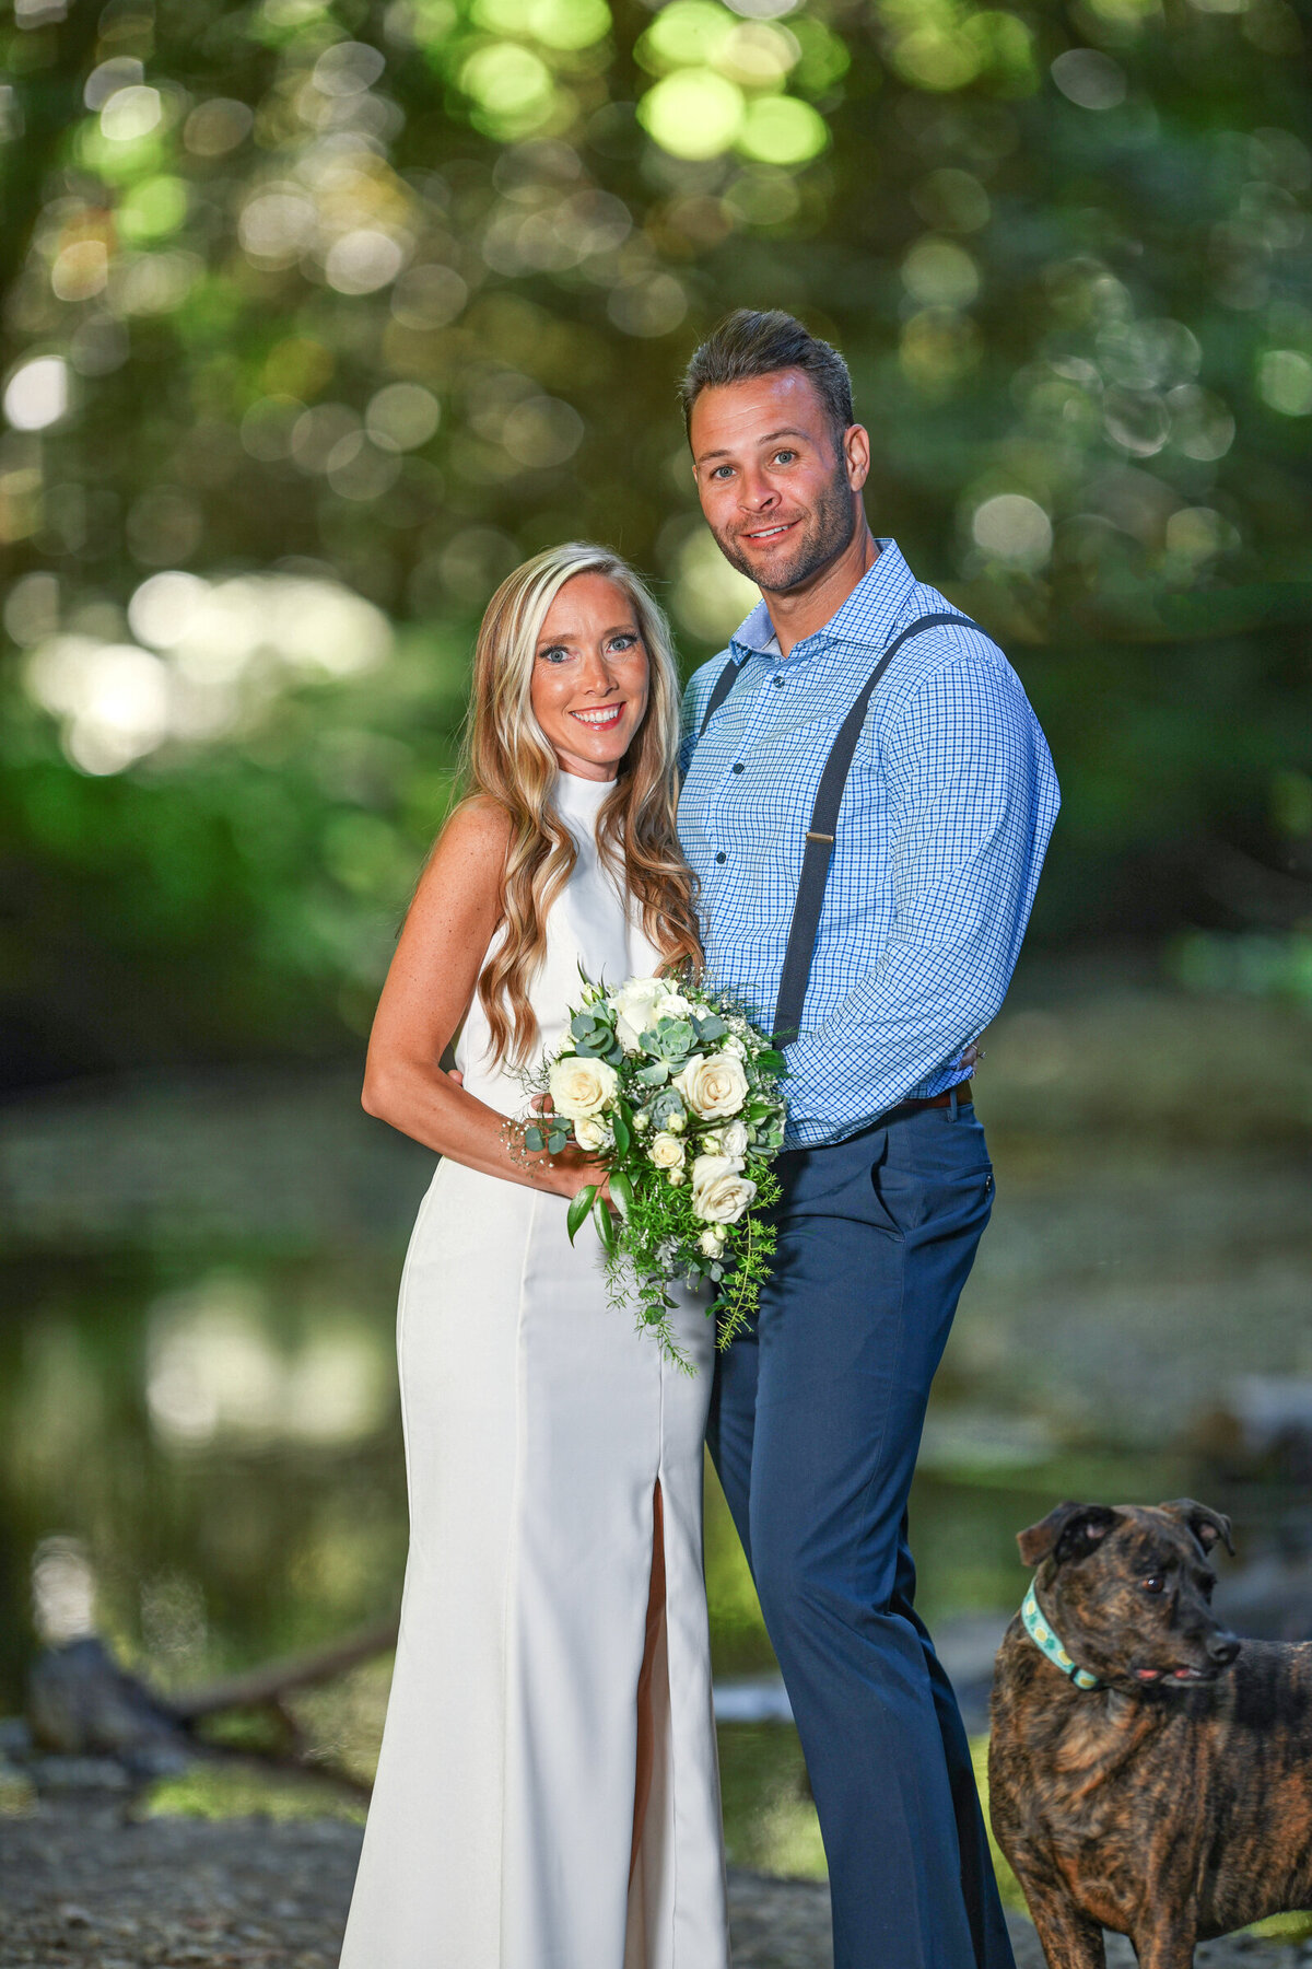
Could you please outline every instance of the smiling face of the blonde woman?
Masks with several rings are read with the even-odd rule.
[[[557,764],[614,780],[647,711],[647,648],[633,603],[606,575],[572,575],[543,622],[531,703]]]

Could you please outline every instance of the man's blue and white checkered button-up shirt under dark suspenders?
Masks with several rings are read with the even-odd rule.
[[[838,727],[899,628],[950,608],[891,540],[842,608],[779,656],[761,603],[740,677],[698,742],[726,656],[685,693],[679,837],[700,878],[708,975],[771,1028],[805,835]],[[838,815],[803,1030],[787,1048],[791,1148],[840,1142],[966,1079],[1003,1002],[1060,797],[1039,721],[976,628],[913,636],[871,699]]]

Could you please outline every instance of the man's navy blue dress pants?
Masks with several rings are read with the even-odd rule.
[[[993,1201],[970,1105],[779,1158],[759,1319],[710,1451],[793,1701],[834,1969],[1011,1969],[956,1697],[915,1613],[907,1494]]]

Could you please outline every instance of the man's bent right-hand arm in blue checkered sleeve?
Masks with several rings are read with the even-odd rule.
[[[1015,677],[936,671],[883,736],[895,925],[865,977],[787,1048],[793,1130],[852,1130],[954,1061],[1003,1002],[1056,817]]]

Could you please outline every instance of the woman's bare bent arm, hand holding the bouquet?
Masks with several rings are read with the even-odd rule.
[[[384,984],[364,1069],[366,1114],[484,1175],[572,1197],[604,1172],[565,1154],[509,1154],[506,1118],[466,1095],[439,1061],[474,996],[500,920],[509,819],[492,799],[460,807],[437,843]]]

